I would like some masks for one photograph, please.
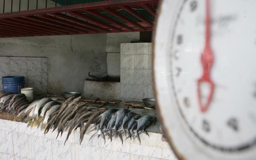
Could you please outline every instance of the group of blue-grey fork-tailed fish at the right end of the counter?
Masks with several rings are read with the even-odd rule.
[[[109,109],[101,114],[99,121],[95,125],[93,130],[97,130],[92,137],[98,136],[103,137],[105,142],[105,135],[109,137],[112,141],[112,136],[120,137],[121,142],[123,144],[123,135],[126,135],[126,139],[134,135],[134,138],[137,137],[140,144],[139,134],[146,133],[146,128],[155,124],[157,121],[156,117],[151,117],[150,115],[145,115],[141,117],[141,115],[136,114],[134,112],[130,112],[128,109]],[[81,138],[81,135],[80,135]],[[91,139],[90,138],[90,139]],[[80,139],[81,142],[82,139]]]

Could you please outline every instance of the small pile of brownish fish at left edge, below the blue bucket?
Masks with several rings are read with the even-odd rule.
[[[12,94],[0,91],[0,112],[17,114],[30,104],[25,94]]]

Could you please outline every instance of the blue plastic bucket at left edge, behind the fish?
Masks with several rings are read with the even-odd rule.
[[[24,88],[23,76],[6,76],[2,77],[3,91],[10,93],[21,93],[21,89]]]

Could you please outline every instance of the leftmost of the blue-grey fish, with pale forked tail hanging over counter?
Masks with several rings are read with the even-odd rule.
[[[103,128],[104,128],[104,126],[107,124],[107,122],[110,120],[110,118],[112,117],[112,114],[115,113],[115,112],[117,112],[117,111],[118,111],[117,109],[112,108],[112,109],[106,110],[105,112],[103,112],[103,114],[101,114],[101,123],[100,123],[100,127],[99,127],[98,131],[97,131],[96,133],[94,133],[94,134],[90,137],[90,139],[93,138],[94,136],[98,135],[98,137],[101,136],[101,137],[104,139],[104,144],[105,144],[106,140],[105,140],[105,135],[104,135],[104,133],[103,133]],[[89,140],[90,140],[90,139],[89,139]]]

